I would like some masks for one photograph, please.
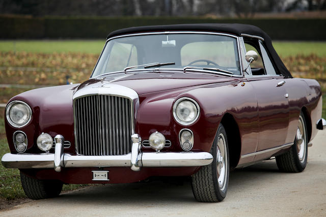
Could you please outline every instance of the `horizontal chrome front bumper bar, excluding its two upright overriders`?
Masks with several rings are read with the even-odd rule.
[[[1,162],[6,168],[53,168],[55,154],[6,153]],[[208,152],[143,152],[138,155],[143,167],[196,167],[213,161]],[[64,154],[64,167],[130,167],[131,153],[121,156],[71,156]]]

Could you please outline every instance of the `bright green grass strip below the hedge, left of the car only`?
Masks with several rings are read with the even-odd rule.
[[[100,53],[105,40],[30,40],[0,41],[0,51]]]

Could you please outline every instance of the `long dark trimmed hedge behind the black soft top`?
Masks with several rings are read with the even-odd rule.
[[[119,28],[181,23],[246,23],[273,40],[326,40],[326,19],[210,19],[196,17],[20,17],[0,16],[1,39],[106,38]]]

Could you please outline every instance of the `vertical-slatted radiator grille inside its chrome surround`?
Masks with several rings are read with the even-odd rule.
[[[78,98],[74,121],[78,154],[108,156],[131,151],[131,100],[108,95]]]

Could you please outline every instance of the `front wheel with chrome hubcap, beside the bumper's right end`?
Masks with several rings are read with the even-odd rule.
[[[213,162],[192,175],[192,189],[199,202],[220,202],[229,184],[229,148],[226,131],[220,123],[210,153]]]

